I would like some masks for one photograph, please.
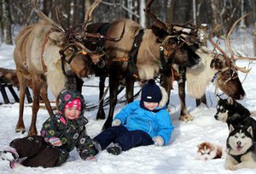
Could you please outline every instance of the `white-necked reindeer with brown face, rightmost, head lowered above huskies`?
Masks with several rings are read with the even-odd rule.
[[[225,94],[230,95],[232,98],[242,99],[246,96],[246,93],[241,86],[241,81],[238,77],[237,70],[243,73],[248,73],[249,70],[238,67],[236,65],[236,59],[251,59],[251,58],[236,58],[232,49],[230,48],[230,34],[235,28],[236,24],[246,15],[236,20],[232,28],[230,29],[226,44],[230,50],[229,57],[224,51],[218,47],[216,43],[212,41],[212,33],[218,28],[215,27],[209,35],[209,40],[215,48],[218,48],[220,53],[215,53],[204,48],[196,50],[201,57],[201,65],[198,65],[195,69],[187,67],[186,71],[181,72],[178,70],[177,65],[172,65],[174,71],[174,78],[178,81],[178,96],[181,104],[181,111],[179,119],[181,121],[192,121],[193,116],[189,114],[185,104],[185,82],[187,81],[187,89],[190,96],[197,98],[197,106],[200,104],[199,98],[204,96],[207,85],[212,81],[215,86],[223,91]],[[185,75],[185,78],[182,76]],[[166,80],[165,80],[166,81]],[[168,83],[168,81],[166,81]],[[206,101],[204,102],[206,104]]]

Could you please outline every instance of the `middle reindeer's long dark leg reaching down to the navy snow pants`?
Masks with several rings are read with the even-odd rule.
[[[114,107],[117,103],[117,95],[118,95],[118,88],[119,88],[119,78],[114,75],[117,74],[112,73],[109,74],[109,112],[108,112],[108,118],[107,121],[104,123],[102,130],[107,129],[111,126],[113,121],[113,111]]]

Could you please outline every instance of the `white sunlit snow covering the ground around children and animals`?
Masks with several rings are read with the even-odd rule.
[[[247,36],[246,32],[241,32],[231,41],[234,45],[234,50],[240,53],[245,53],[248,56],[253,57],[253,41],[252,36]],[[240,38],[243,36],[242,38]],[[237,42],[237,41],[241,42]],[[236,44],[237,43],[237,44]],[[13,60],[14,46],[2,44],[0,46],[0,66],[5,68],[15,69],[15,63]],[[248,61],[239,61],[239,66],[247,66]],[[239,77],[243,81],[242,85],[247,92],[247,97],[243,99],[241,104],[244,104],[251,111],[256,110],[256,88],[253,81],[256,78],[256,65],[253,63],[250,65],[253,67],[251,72],[247,75],[245,81],[245,75],[240,73]],[[87,79],[84,84],[98,85],[98,78]],[[139,88],[139,87],[138,87]],[[175,126],[172,132],[172,139],[169,145],[165,147],[155,147],[154,145],[138,147],[125,151],[118,156],[108,154],[102,151],[97,154],[96,161],[84,161],[79,159],[79,155],[75,150],[72,151],[69,160],[60,167],[47,168],[42,167],[32,168],[18,166],[15,169],[9,168],[9,163],[4,160],[0,160],[0,172],[1,174],[7,173],[22,173],[22,174],[61,174],[61,173],[144,173],[156,174],[156,173],[175,173],[175,174],[229,174],[229,173],[243,173],[253,174],[256,169],[241,169],[238,171],[229,171],[224,169],[224,159],[217,160],[198,160],[196,154],[197,144],[202,142],[212,142],[224,146],[226,138],[228,136],[227,125],[223,122],[216,121],[213,117],[216,113],[216,98],[214,94],[215,87],[210,84],[207,87],[207,102],[208,106],[201,104],[199,107],[195,107],[195,100],[187,96],[187,107],[191,115],[195,116],[194,121],[185,123],[178,121],[179,117],[179,100],[177,96],[177,83],[174,84],[174,90],[172,91],[170,98],[169,109],[172,115],[172,123]],[[9,90],[7,90],[9,93]],[[89,104],[97,104],[98,89],[96,87],[84,87],[83,95],[85,100]],[[219,93],[221,93],[219,91]],[[121,95],[120,95],[121,96]],[[9,98],[12,99],[9,94]],[[53,100],[51,94],[49,98]],[[0,102],[3,103],[3,98],[0,96]],[[28,129],[31,121],[32,108],[31,104],[26,104],[24,109],[24,119],[26,130]],[[118,104],[115,108],[114,114],[119,112],[125,104]],[[96,109],[87,111],[85,116],[89,119],[87,126],[88,134],[91,138],[95,137],[101,132],[104,121],[96,121]],[[16,133],[15,125],[18,121],[19,104],[2,104],[0,105],[0,149],[9,145],[9,142],[14,138],[22,138],[25,134]],[[105,107],[105,112],[108,113],[108,107]],[[45,109],[39,109],[37,127],[38,131],[41,129],[42,123],[48,118],[48,113]]]

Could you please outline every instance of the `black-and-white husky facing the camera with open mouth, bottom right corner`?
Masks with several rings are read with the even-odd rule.
[[[235,129],[230,125],[225,168],[232,171],[241,168],[256,168],[256,151],[254,148],[252,126]]]

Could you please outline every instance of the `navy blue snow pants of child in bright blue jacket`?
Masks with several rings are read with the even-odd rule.
[[[123,151],[154,143],[148,133],[140,130],[128,131],[125,126],[111,126],[97,135],[94,140],[101,145],[102,150],[110,143],[118,143]]]

